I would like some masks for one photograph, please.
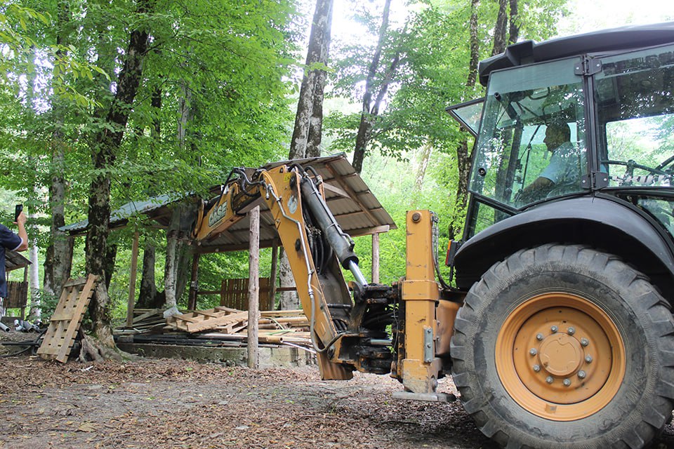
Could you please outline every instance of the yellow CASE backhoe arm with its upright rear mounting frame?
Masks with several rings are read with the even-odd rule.
[[[236,169],[232,175],[220,197],[201,208],[195,238],[213,239],[266,203],[310,321],[322,378],[350,379],[353,370],[390,373],[408,396],[443,400],[435,393],[443,365],[436,349],[443,347],[439,335],[447,326],[438,326],[436,310],[453,319],[456,307],[438,307],[434,215],[408,213],[406,279],[393,286],[368,283],[352,239],[326,205],[321,177],[306,161],[252,173]],[[342,269],[355,279],[350,286]]]

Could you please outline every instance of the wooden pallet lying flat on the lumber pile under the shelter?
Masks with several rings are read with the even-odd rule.
[[[232,333],[247,326],[248,312],[219,306],[215,309],[195,310],[189,314],[170,316],[166,319],[166,323],[189,333],[214,328],[226,329],[227,333]]]

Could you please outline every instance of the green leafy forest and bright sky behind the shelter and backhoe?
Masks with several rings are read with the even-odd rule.
[[[381,236],[380,280],[397,281],[407,210],[439,215],[440,248],[461,236],[471,142],[444,110],[483,95],[477,60],[524,39],[667,20],[663,1],[3,1],[0,222],[25,205],[29,316],[48,318],[67,277],[96,273],[107,282],[89,326],[121,319],[135,232],[138,306],[184,308],[184,239],[144,217],[108,232],[110,210],[207,197],[233,167],[289,156],[348,154],[399,227]],[[58,230],[84,219],[86,238]],[[369,237],[355,250],[369,273]],[[270,260],[263,250],[260,276]],[[247,276],[246,253],[201,257],[201,290]]]

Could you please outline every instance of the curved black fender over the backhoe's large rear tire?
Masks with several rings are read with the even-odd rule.
[[[468,290],[492,264],[522,248],[580,243],[621,257],[673,303],[674,254],[668,234],[626,201],[585,196],[531,208],[484,229],[454,257],[456,284]]]

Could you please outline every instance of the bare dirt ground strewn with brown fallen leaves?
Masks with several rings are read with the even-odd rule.
[[[0,448],[496,448],[458,401],[395,400],[401,386],[388,376],[325,382],[315,366],[176,359],[1,361]],[[456,393],[450,379],[440,391]],[[674,430],[654,447],[674,448]]]

